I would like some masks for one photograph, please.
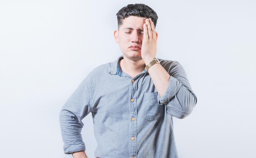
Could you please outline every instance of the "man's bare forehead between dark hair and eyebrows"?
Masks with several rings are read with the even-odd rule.
[[[123,20],[123,24],[120,28],[143,28],[143,24],[145,23],[146,18],[138,17],[138,16],[129,16]]]

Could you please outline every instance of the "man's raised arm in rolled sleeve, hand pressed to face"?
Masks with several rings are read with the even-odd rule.
[[[155,58],[156,45],[155,26],[151,19],[146,19],[141,46],[141,57],[145,64]],[[185,118],[192,112],[197,99],[179,63],[154,64],[148,69],[148,73],[160,96],[159,104],[166,105],[168,114],[177,118]]]

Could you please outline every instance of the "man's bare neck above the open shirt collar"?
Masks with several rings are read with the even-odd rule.
[[[132,78],[141,73],[145,68],[145,63],[142,59],[135,61],[124,58],[119,61],[119,64],[121,70],[130,75]]]

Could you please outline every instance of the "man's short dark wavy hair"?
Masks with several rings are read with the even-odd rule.
[[[143,18],[151,18],[156,26],[157,13],[145,4],[128,4],[117,12],[118,29],[123,24],[123,20],[129,16],[138,16]]]

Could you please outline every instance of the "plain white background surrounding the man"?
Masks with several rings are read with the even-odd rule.
[[[174,119],[180,158],[256,157],[255,0],[0,0],[1,158],[72,157],[59,112],[93,68],[121,55],[115,14],[134,3],[157,12],[157,57],[179,61],[198,97]],[[83,122],[94,158],[91,116]]]

